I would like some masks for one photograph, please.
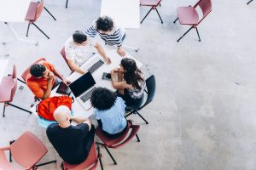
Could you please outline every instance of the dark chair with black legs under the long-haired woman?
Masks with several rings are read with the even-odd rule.
[[[146,122],[146,124],[148,124],[148,121],[138,111],[142,110],[143,107],[148,105],[154,99],[156,86],[154,75],[148,77],[148,79],[146,80],[146,86],[147,91],[145,92],[148,94],[146,102],[144,104],[127,106],[125,110],[130,112],[125,117],[130,116],[131,114],[137,114],[143,119],[144,122]]]

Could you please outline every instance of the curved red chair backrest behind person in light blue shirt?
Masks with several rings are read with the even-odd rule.
[[[108,138],[102,133],[102,129],[100,127],[96,128],[96,135],[108,146],[108,148],[119,148],[124,144],[128,143],[139,130],[139,125],[132,125],[130,122],[127,122],[127,128],[124,133],[122,133],[118,138]],[[129,131],[131,129],[131,133]],[[129,135],[128,135],[129,134]]]

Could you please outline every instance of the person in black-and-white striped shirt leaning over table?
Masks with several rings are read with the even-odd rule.
[[[125,39],[125,29],[116,26],[110,17],[99,17],[85,33],[90,37],[95,37],[96,33],[98,33],[105,44],[110,46],[116,45],[118,47],[117,53],[122,57],[125,56],[125,50],[121,48]]]

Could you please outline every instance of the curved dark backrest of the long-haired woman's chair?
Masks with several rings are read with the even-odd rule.
[[[144,103],[143,106],[141,106],[141,109],[145,106],[148,105],[153,99],[154,99],[154,94],[155,94],[155,78],[154,75],[151,75],[150,77],[148,77],[148,79],[146,80],[146,86],[147,86],[147,100]]]

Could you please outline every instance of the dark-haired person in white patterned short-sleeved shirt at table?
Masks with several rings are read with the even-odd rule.
[[[67,63],[73,69],[81,74],[86,73],[79,66],[83,65],[86,60],[88,60],[94,54],[94,48],[97,52],[102,55],[108,64],[111,63],[110,58],[105,53],[102,46],[88,38],[84,32],[75,31],[73,37],[69,37],[65,42],[65,53],[67,58]]]

